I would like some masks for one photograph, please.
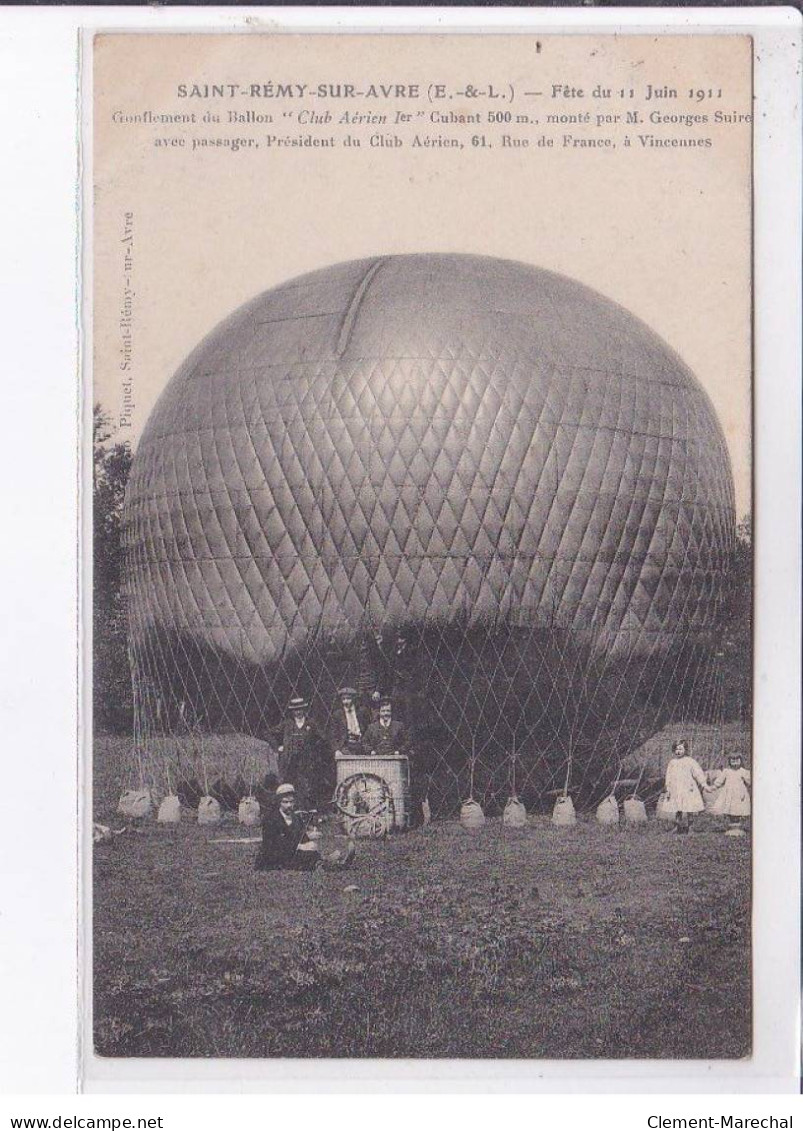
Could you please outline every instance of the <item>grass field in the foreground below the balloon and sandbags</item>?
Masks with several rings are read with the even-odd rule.
[[[96,744],[101,820],[123,741]],[[248,835],[187,812],[95,849],[100,1054],[750,1053],[750,840],[710,817],[437,822],[311,875],[214,843]]]

